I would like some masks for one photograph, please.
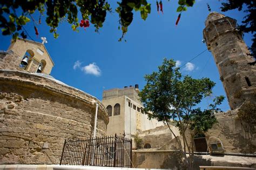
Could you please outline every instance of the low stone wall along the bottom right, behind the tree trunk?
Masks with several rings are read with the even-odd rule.
[[[133,151],[132,163],[135,168],[186,169],[179,151]],[[256,159],[233,155],[194,155],[193,169],[200,169],[199,166],[255,168]]]

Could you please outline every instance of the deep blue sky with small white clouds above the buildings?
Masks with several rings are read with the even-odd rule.
[[[116,0],[109,2],[114,11]],[[209,13],[206,3],[210,4],[212,11],[220,12],[221,6],[215,0],[196,1],[193,8],[182,13],[176,27],[178,1],[163,1],[164,14],[157,13],[156,1],[149,2],[152,3],[151,13],[146,21],[140,18],[139,12],[134,13],[133,22],[125,36],[127,42],[118,42],[122,32],[118,30],[116,12],[107,13],[99,33],[95,32],[92,24],[86,30],[79,28],[77,33],[72,31],[71,25],[62,23],[57,30],[60,36],[54,39],[49,32],[50,28],[43,22],[38,25],[37,38],[32,23],[25,28],[38,42],[41,42],[42,36],[48,39],[45,46],[55,62],[51,76],[101,100],[103,90],[134,84],[139,84],[139,89],[142,89],[145,74],[156,71],[164,57],[179,60],[183,65],[203,52],[206,45],[201,39]],[[244,16],[244,13],[237,10],[224,14],[237,19],[239,24]],[[244,40],[248,46],[252,44],[251,35],[245,35]],[[0,35],[0,50],[7,50],[10,41],[10,36]],[[213,96],[225,96],[211,52],[204,52],[184,66],[181,72],[193,78],[210,78],[216,83]],[[200,106],[206,107],[208,102],[210,100],[205,100]],[[224,111],[230,109],[227,100],[221,108]]]

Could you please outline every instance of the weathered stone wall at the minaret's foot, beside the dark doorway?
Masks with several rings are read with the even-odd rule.
[[[215,114],[218,123],[204,133],[207,141],[211,137],[219,138],[223,143],[225,153],[247,153],[256,152],[256,132],[248,132],[241,121],[237,119],[238,110],[221,112]],[[190,131],[186,131],[188,142],[190,141]],[[210,142],[215,142],[211,138]],[[194,141],[193,141],[194,144]]]

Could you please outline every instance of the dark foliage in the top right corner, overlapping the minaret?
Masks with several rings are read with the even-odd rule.
[[[241,11],[244,9],[246,16],[242,25],[240,25],[240,31],[251,32],[253,34],[252,46],[250,50],[254,58],[256,58],[256,1],[254,0],[228,0],[226,3],[222,3],[221,11],[226,12],[228,10],[238,9]],[[246,8],[245,8],[246,7]]]

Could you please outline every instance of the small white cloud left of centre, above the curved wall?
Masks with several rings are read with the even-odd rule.
[[[81,64],[82,64],[82,62],[77,60],[73,65],[73,69],[74,70],[80,69],[85,74],[92,74],[92,75],[97,76],[97,77],[102,74],[102,71],[99,69],[99,67],[96,65],[96,63],[91,63],[91,64],[86,65],[86,66],[81,66]]]

